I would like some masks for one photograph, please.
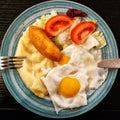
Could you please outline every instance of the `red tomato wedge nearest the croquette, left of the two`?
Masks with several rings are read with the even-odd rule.
[[[45,31],[49,36],[57,36],[60,32],[64,31],[71,25],[72,18],[67,15],[59,14],[47,21]]]

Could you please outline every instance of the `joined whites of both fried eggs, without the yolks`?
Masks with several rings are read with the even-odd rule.
[[[62,109],[87,105],[88,90],[97,89],[107,75],[104,69],[97,67],[97,63],[101,59],[99,50],[90,51],[83,45],[71,44],[62,52],[70,57],[69,62],[64,65],[56,64],[56,67],[50,69],[46,77],[42,78],[57,113]],[[81,88],[76,96],[65,98],[58,93],[59,83],[64,77],[79,80]]]

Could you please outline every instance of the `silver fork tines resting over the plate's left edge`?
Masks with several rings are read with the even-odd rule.
[[[0,70],[19,69],[25,56],[0,56]]]

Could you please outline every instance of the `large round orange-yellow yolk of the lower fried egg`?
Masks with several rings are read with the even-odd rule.
[[[61,80],[58,92],[66,98],[74,97],[80,89],[80,82],[76,78],[65,77]]]

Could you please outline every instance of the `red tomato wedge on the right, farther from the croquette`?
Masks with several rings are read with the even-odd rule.
[[[97,24],[92,21],[80,22],[71,31],[71,39],[76,44],[82,44],[97,28]]]

